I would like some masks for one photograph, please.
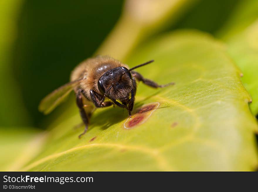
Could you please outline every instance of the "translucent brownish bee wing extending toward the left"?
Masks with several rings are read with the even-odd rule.
[[[43,100],[41,100],[38,110],[44,114],[49,114],[52,112],[57,105],[65,100],[65,98],[73,90],[74,86],[78,85],[81,81],[82,79],[69,82],[48,94]]]

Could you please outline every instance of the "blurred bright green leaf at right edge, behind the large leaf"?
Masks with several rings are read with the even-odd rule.
[[[258,1],[240,1],[218,36],[243,72],[242,82],[252,96],[251,111],[258,114]]]

